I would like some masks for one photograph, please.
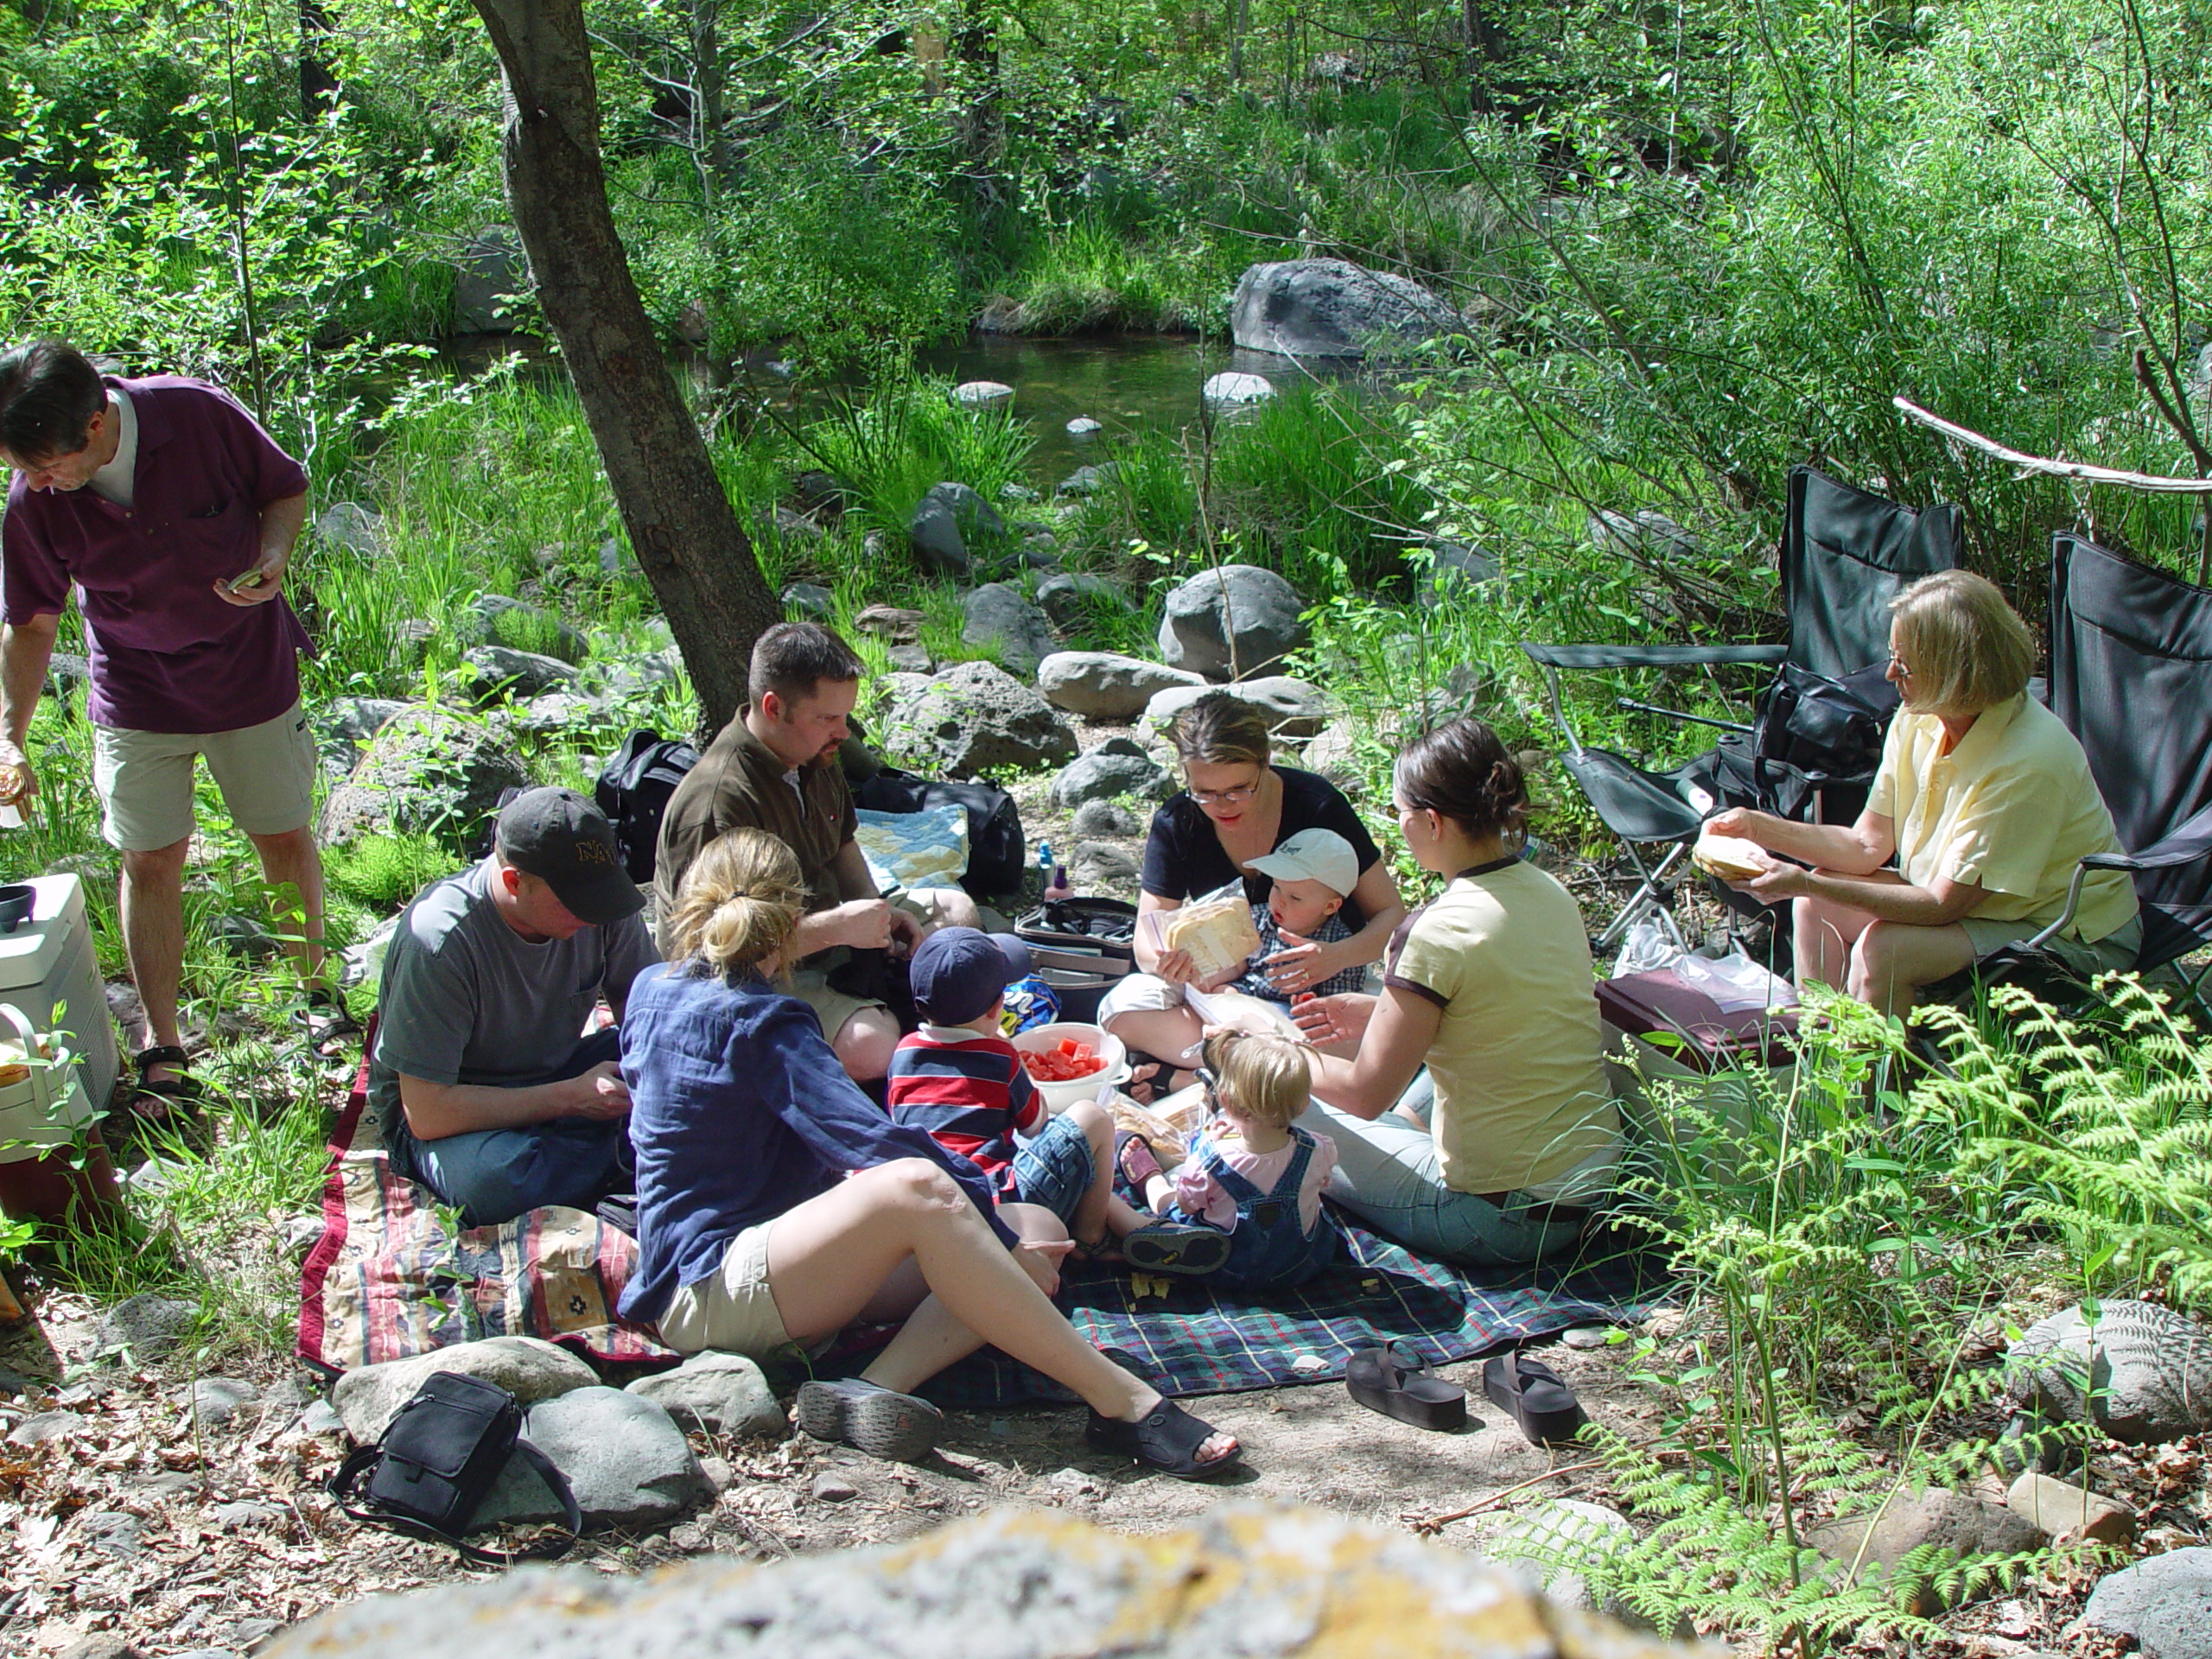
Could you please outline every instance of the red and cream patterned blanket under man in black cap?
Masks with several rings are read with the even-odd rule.
[[[542,1336],[613,1363],[677,1358],[650,1329],[615,1318],[637,1270],[630,1234],[566,1208],[449,1230],[431,1194],[374,1144],[367,1091],[363,1062],[330,1137],[323,1237],[301,1267],[303,1360],[349,1371],[484,1336]]]

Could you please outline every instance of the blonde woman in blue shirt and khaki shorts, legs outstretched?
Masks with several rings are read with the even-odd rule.
[[[1066,1230],[1048,1212],[993,1206],[971,1164],[894,1124],[838,1066],[814,1013],[770,984],[803,914],[790,849],[732,830],[684,876],[670,964],[630,989],[622,1075],[641,1259],[622,1314],[655,1321],[670,1347],[752,1358],[812,1347],[856,1318],[905,1318],[860,1376],[799,1389],[801,1429],[876,1458],[925,1455],[942,1413],[909,1389],[991,1343],[1091,1405],[1091,1444],[1186,1480],[1234,1464],[1232,1436],[1164,1400],[1053,1307]]]

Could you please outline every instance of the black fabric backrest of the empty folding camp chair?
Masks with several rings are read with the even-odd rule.
[[[1781,549],[1790,661],[1829,679],[1885,661],[1889,602],[1955,566],[1958,544],[1960,513],[1949,502],[1916,511],[1792,467]]]

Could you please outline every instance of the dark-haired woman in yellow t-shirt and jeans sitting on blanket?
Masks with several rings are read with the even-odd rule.
[[[1413,860],[1449,885],[1398,927],[1380,998],[1292,1006],[1314,1042],[1358,1042],[1314,1055],[1321,1104],[1298,1124],[1336,1139],[1329,1197],[1378,1232],[1535,1261],[1575,1243],[1619,1159],[1582,911],[1522,863],[1528,794],[1482,721],[1413,743],[1391,796]]]

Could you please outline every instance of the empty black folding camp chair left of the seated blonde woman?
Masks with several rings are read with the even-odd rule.
[[[1672,896],[1666,885],[1690,849],[1699,825],[1721,805],[1783,810],[1772,774],[1754,765],[1750,726],[1686,714],[1655,703],[1617,699],[1632,708],[1694,726],[1719,728],[1721,745],[1668,770],[1650,770],[1590,748],[1577,734],[1559,699],[1559,670],[1597,668],[1686,668],[1752,666],[1781,670],[1785,664],[1827,681],[1845,681],[1889,657],[1889,599],[1907,584],[1958,564],[1960,513],[1936,504],[1922,511],[1898,507],[1840,484],[1812,467],[1790,471],[1790,513],[1783,524],[1781,577],[1790,619],[1787,646],[1540,646],[1522,650],[1544,670],[1551,714],[1566,734],[1566,770],[1582,785],[1590,807],[1621,838],[1637,872],[1637,889],[1619,916],[1595,940],[1599,953],[1648,909]],[[1891,703],[1893,706],[1893,703]],[[1792,783],[1790,816],[1809,814],[1834,823],[1858,816],[1867,776],[1798,774]],[[1670,843],[1659,863],[1646,847]]]

